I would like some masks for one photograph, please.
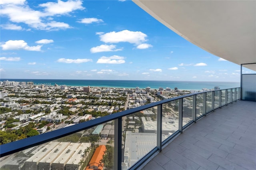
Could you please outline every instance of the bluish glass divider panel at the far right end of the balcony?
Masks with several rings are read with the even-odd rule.
[[[256,74],[242,75],[242,100],[256,101]]]

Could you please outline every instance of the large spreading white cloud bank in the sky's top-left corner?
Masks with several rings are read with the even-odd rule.
[[[82,10],[82,1],[81,0],[68,0],[61,1],[58,0],[55,2],[47,2],[44,4],[39,4],[40,7],[43,7],[44,12],[31,9],[24,1],[16,0],[17,3],[7,4],[9,0],[4,0],[5,4],[1,6],[1,15],[7,16],[11,22],[15,23],[25,23],[28,26],[38,29],[38,30],[60,30],[67,29],[70,26],[63,22],[53,21],[50,16],[68,14],[74,10]],[[11,2],[15,2],[11,0]],[[51,20],[51,22],[48,22]],[[12,27],[13,29],[20,29],[20,27]],[[30,29],[27,29],[30,30]]]

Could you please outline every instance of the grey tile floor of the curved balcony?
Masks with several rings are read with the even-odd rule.
[[[142,170],[256,170],[256,102],[238,101],[208,114]]]

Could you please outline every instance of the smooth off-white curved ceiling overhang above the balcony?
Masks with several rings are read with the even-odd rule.
[[[236,64],[256,63],[256,0],[133,0],[198,47]],[[244,65],[256,71],[255,65]]]

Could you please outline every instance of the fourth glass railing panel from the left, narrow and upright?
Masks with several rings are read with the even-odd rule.
[[[184,97],[183,98],[183,117],[182,117],[182,127],[192,121],[192,111],[193,111],[193,97]]]

